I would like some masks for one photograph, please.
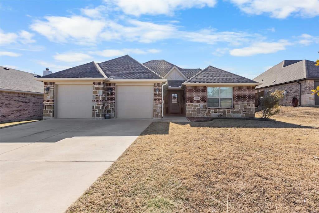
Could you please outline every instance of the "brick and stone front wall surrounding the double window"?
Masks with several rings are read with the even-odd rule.
[[[255,117],[255,87],[233,87],[232,108],[207,107],[206,86],[186,86],[185,91],[186,116]]]

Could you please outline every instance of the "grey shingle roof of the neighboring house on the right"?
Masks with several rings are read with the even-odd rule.
[[[256,88],[262,88],[306,78],[319,78],[319,67],[315,64],[308,60],[284,60],[253,80],[262,83]]]

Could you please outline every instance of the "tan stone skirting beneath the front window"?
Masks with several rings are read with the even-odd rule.
[[[186,103],[186,116],[207,116],[207,117],[255,117],[255,104],[235,104],[234,109],[210,109],[206,104]]]

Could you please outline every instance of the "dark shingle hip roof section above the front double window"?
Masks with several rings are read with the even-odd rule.
[[[185,83],[257,83],[219,68],[208,66]]]

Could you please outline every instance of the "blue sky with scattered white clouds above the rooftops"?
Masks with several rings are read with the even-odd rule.
[[[129,54],[253,79],[319,58],[319,1],[6,1],[1,66],[43,74]]]

